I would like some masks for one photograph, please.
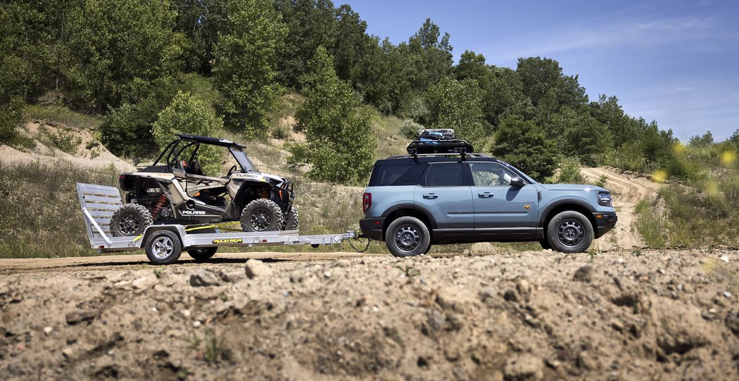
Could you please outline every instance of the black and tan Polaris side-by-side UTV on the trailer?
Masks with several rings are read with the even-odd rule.
[[[113,213],[113,236],[137,236],[149,224],[241,221],[248,232],[298,228],[293,185],[259,172],[245,146],[214,137],[176,136],[154,164],[120,175],[120,188],[128,193],[126,204]],[[228,151],[224,164],[236,163],[228,174],[203,174],[197,155],[204,145]]]

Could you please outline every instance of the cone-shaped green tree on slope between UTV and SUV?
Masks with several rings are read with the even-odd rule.
[[[358,184],[369,174],[377,146],[369,111],[359,107],[352,87],[336,76],[326,49],[316,49],[308,67],[301,80],[306,102],[296,114],[307,145],[293,146],[290,162],[312,165],[311,179]]]

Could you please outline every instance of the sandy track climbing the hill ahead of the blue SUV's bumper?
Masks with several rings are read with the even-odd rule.
[[[607,176],[605,188],[613,193],[613,204],[619,215],[616,227],[598,240],[600,250],[643,247],[644,241],[641,240],[634,224],[636,222],[634,209],[643,199],[655,199],[661,185],[642,174],[624,173],[613,168],[580,168],[580,173],[591,183],[596,182],[600,176]]]

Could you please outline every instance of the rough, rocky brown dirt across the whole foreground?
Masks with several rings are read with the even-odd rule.
[[[245,258],[263,258],[252,266],[263,271],[247,278]],[[310,258],[231,254],[170,267],[141,267],[140,255],[0,261],[0,372],[10,379],[739,377],[737,252],[614,251],[592,262],[549,251]]]

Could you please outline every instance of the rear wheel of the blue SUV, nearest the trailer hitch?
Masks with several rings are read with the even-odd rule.
[[[429,251],[431,234],[426,224],[415,217],[400,217],[385,232],[387,250],[396,257],[420,255]]]

